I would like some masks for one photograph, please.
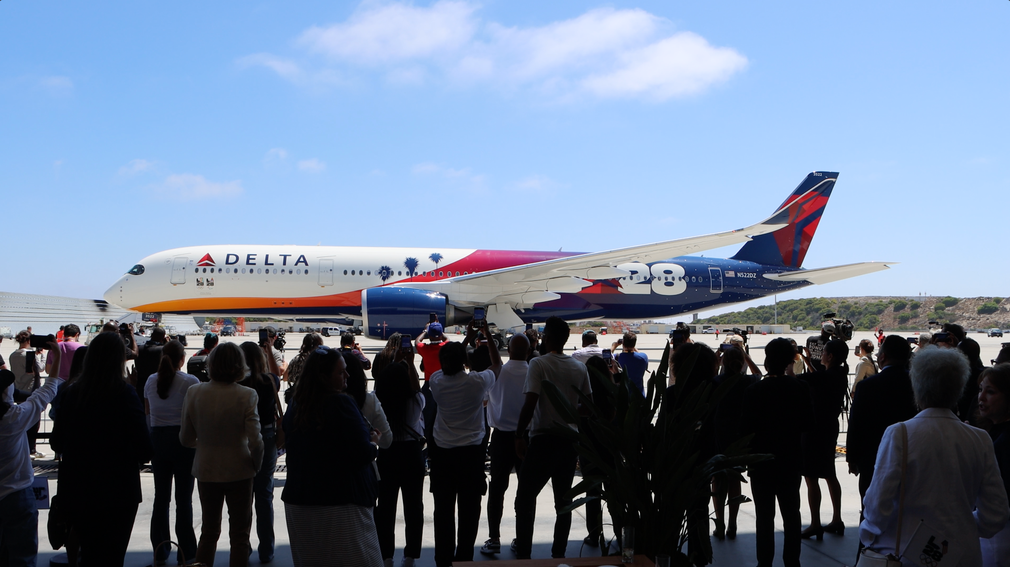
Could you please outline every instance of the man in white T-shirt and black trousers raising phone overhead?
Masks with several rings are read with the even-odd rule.
[[[471,322],[470,331],[478,328]],[[491,332],[484,323],[485,337]],[[484,473],[484,396],[502,369],[502,358],[493,342],[478,345],[471,353],[463,343],[447,342],[438,350],[441,368],[431,374],[431,396],[438,405],[432,427],[428,460],[429,489],[434,498],[435,565],[474,560],[474,542],[481,521],[481,498],[487,491]],[[484,357],[482,368],[475,361]],[[487,360],[490,357],[490,366]],[[474,371],[468,372],[469,364]],[[487,368],[487,369],[483,369]],[[456,516],[459,509],[460,529]]]

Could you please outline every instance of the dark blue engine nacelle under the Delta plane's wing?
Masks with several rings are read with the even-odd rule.
[[[416,337],[428,324],[430,314],[437,314],[442,325],[451,325],[453,312],[445,296],[437,292],[395,286],[362,290],[365,334],[372,339],[385,340],[393,333]]]

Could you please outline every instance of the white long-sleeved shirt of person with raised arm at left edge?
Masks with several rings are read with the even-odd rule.
[[[28,455],[28,436],[24,432],[38,421],[38,415],[57,395],[63,380],[45,378],[24,403],[11,406],[0,419],[0,498],[31,486],[35,475]]]

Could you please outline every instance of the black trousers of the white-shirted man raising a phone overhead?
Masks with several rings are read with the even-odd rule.
[[[473,561],[481,522],[481,497],[488,485],[484,474],[484,445],[443,449],[428,445],[430,489],[435,511],[435,565]],[[460,529],[456,516],[459,508]]]

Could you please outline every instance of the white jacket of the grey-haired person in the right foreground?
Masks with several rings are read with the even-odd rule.
[[[991,538],[1010,516],[992,439],[939,408],[923,410],[905,425],[908,471],[902,547],[924,520],[965,550],[957,565],[982,565],[979,538]],[[882,554],[894,553],[902,444],[900,424],[884,432],[874,479],[864,498],[860,539]]]

